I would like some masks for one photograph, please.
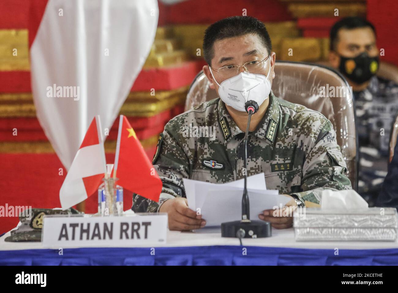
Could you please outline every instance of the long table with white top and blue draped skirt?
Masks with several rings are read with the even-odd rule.
[[[69,248],[59,255],[40,242],[4,242],[8,232],[0,237],[0,265],[398,265],[398,242],[296,242],[293,228],[272,233],[240,246],[219,229],[168,231],[167,243],[155,248]]]

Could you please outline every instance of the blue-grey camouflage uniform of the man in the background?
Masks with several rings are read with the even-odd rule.
[[[359,138],[358,193],[374,206],[387,174],[390,131],[398,112],[398,85],[374,76],[365,90],[353,95]]]

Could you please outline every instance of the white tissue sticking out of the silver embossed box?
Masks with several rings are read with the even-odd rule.
[[[367,209],[368,203],[354,190],[332,191],[325,189],[321,194],[323,210],[358,210]]]

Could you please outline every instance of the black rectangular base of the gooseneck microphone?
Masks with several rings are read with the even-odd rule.
[[[238,238],[236,233],[244,230],[244,237],[242,238],[265,238],[272,236],[271,223],[265,221],[232,221],[221,224],[221,237]],[[242,231],[240,231],[242,233]]]

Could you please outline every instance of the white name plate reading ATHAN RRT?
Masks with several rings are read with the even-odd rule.
[[[44,216],[44,248],[134,247],[166,243],[166,213],[128,216]]]

